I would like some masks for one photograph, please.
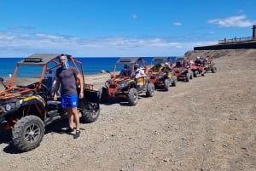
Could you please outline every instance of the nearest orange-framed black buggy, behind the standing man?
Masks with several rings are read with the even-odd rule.
[[[82,63],[71,55],[66,56],[69,65],[81,73],[84,81]],[[61,108],[61,98],[53,100],[55,74],[52,71],[61,66],[59,58],[60,54],[32,54],[16,64],[9,83],[5,84],[3,77],[0,78],[5,88],[0,91],[0,131],[12,130],[11,142],[19,151],[38,147],[45,127],[67,117],[66,110]],[[22,81],[15,85],[18,79]],[[79,84],[77,90],[79,93]],[[82,121],[95,122],[100,114],[99,92],[84,82],[84,99],[78,101]]]

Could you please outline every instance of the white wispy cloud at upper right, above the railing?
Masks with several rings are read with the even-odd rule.
[[[256,24],[256,20],[247,20],[245,14],[238,16],[230,16],[224,19],[208,20],[208,23],[220,27],[248,27]]]

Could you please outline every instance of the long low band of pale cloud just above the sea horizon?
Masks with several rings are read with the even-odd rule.
[[[82,39],[43,33],[0,32],[0,57],[24,57],[35,53],[66,53],[77,57],[183,55],[198,44],[210,43],[180,43],[167,37]]]

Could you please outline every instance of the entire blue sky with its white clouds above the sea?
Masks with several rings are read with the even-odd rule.
[[[253,25],[255,0],[0,0],[0,57],[183,55]]]

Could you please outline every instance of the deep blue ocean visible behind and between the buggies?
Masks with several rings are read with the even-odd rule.
[[[73,57],[75,60],[82,62],[85,75],[95,75],[101,71],[113,71],[115,62],[119,57]],[[143,57],[147,65],[151,64],[153,57]],[[22,58],[0,58],[0,77],[9,77],[15,70],[16,63]],[[172,57],[174,62],[176,57]],[[26,71],[27,74],[32,74],[33,71]]]

